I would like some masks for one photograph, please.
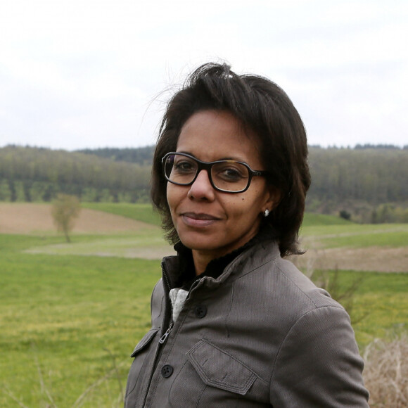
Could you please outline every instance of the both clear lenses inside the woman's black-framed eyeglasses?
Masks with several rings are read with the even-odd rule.
[[[196,178],[202,165],[185,155],[170,155],[165,160],[165,175],[176,184],[189,185]],[[223,191],[241,191],[249,181],[248,167],[234,160],[222,160],[210,165],[210,177],[217,189]]]

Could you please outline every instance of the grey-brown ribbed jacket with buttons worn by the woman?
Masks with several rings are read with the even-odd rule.
[[[350,319],[273,241],[191,287],[174,326],[167,274],[132,357],[126,408],[368,407]]]

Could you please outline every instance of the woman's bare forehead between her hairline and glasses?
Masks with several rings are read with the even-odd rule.
[[[259,138],[226,111],[203,110],[181,128],[177,151],[203,161],[234,159],[260,169]]]

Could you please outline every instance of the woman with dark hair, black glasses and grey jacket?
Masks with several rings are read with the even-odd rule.
[[[283,257],[310,186],[286,94],[207,64],[167,106],[152,198],[165,257],[125,407],[368,407],[350,319]]]

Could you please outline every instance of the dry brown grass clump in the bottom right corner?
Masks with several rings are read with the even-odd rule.
[[[408,335],[389,342],[376,339],[364,352],[364,381],[370,407],[408,407]]]

